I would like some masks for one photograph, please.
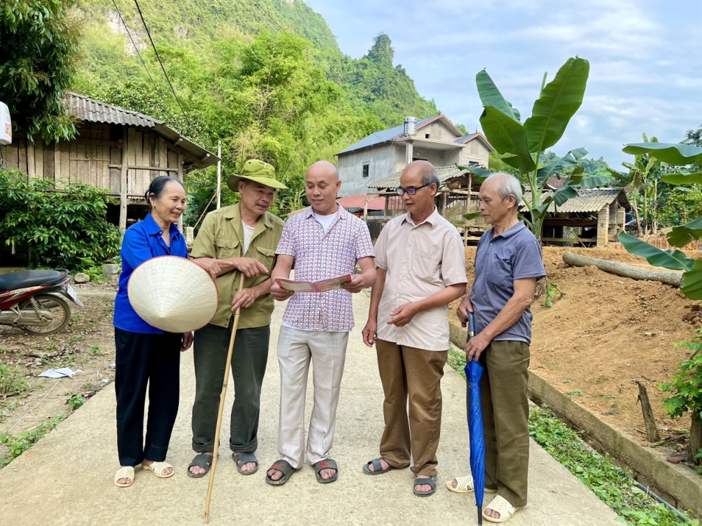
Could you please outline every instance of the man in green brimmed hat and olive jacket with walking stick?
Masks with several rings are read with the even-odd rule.
[[[258,159],[246,161],[241,175],[232,175],[227,185],[241,194],[241,201],[205,216],[192,258],[217,276],[219,305],[213,320],[195,331],[195,402],[192,407],[192,449],[197,455],[188,466],[191,477],[210,470],[215,428],[227,351],[234,323],[232,311],[241,306],[239,327],[232,355],[234,406],[229,446],[237,470],[251,475],[258,470],[258,415],[260,390],[268,358],[270,318],[270,272],[283,221],[268,212],[278,188],[275,169]],[[241,273],[244,288],[237,291]]]

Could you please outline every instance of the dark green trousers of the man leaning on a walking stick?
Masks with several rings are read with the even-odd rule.
[[[217,413],[224,381],[233,320],[229,327],[207,324],[195,331],[195,402],[192,406],[192,449],[198,453],[214,450]],[[263,376],[268,360],[270,326],[237,330],[232,353],[234,405],[229,447],[235,452],[253,453],[258,448],[258,415]]]

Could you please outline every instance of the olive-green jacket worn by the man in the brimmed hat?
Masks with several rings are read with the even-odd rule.
[[[241,212],[239,204],[227,206],[209,212],[197,233],[192,246],[192,258],[254,258],[263,263],[268,269],[267,274],[258,277],[244,278],[244,287],[255,287],[265,282],[270,277],[275,263],[275,249],[283,232],[282,219],[270,212],[266,212],[258,219],[256,228],[253,229],[251,243],[246,254],[244,250],[244,228],[241,226]],[[217,278],[217,291],[219,305],[217,313],[210,322],[219,327],[228,327],[232,319],[232,299],[239,289],[239,270],[232,270]],[[239,318],[239,329],[265,327],[270,325],[273,312],[273,298],[270,294],[260,296],[249,308],[242,308]]]

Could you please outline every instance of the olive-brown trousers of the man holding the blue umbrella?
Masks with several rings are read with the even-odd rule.
[[[527,505],[529,476],[529,345],[492,341],[480,355],[485,487],[512,506]],[[468,400],[470,411],[470,400]]]

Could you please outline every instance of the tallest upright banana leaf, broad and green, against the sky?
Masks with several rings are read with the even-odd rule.
[[[570,119],[583,104],[589,74],[587,60],[569,58],[555,79],[544,86],[531,117],[524,121],[529,152],[543,152],[563,136]]]

